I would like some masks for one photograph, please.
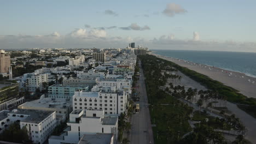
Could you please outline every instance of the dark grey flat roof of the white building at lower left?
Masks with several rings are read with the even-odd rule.
[[[21,122],[40,123],[46,117],[50,116],[53,112],[54,111],[14,109],[13,111],[10,111],[8,114],[12,114],[12,115],[29,115],[27,118],[25,118]]]

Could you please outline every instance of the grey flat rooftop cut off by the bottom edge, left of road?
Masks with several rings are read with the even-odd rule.
[[[109,144],[113,134],[85,134],[82,136],[78,144]]]

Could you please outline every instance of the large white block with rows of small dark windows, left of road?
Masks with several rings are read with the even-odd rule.
[[[127,93],[116,91],[115,87],[95,86],[92,92],[75,92],[73,110],[104,110],[105,114],[120,115],[126,112]]]

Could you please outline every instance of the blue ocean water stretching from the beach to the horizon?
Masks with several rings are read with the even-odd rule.
[[[256,77],[256,53],[224,51],[152,50],[158,55],[184,59],[186,61],[211,65],[237,71]]]

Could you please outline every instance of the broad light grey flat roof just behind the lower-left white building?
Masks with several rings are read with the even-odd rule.
[[[66,107],[71,106],[72,101],[67,101],[66,99],[54,99],[54,98],[43,98],[33,101],[28,101],[24,104],[19,105],[19,108],[24,107],[45,107],[45,108],[58,108],[66,109]]]

